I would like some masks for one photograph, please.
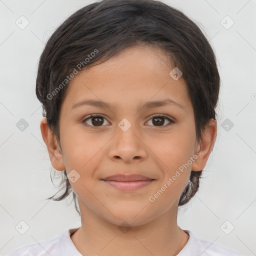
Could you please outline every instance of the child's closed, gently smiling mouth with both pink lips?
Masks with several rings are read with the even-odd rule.
[[[101,179],[104,183],[119,190],[136,190],[152,183],[155,179],[140,174],[131,175],[111,175]]]

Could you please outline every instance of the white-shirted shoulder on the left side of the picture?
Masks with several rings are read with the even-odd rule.
[[[18,249],[13,250],[12,252],[8,253],[6,256],[55,256],[59,254],[58,251],[58,244],[61,237],[67,235],[69,230],[65,230],[60,236],[55,237],[53,239],[43,241],[43,242],[36,242],[32,244],[25,245]]]

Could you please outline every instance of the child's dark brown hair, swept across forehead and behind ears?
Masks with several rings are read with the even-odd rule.
[[[180,10],[158,0],[101,0],[64,20],[48,39],[39,59],[36,96],[59,145],[60,107],[72,73],[138,44],[161,49],[172,66],[182,71],[194,111],[196,139],[201,141],[201,132],[209,120],[216,119],[220,78],[214,51],[200,28]],[[80,215],[66,170],[61,173],[62,194],[47,199],[62,200],[72,192]],[[201,174],[202,170],[191,170],[178,206],[197,192]]]

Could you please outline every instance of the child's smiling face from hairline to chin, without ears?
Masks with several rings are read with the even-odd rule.
[[[171,69],[160,50],[137,45],[70,82],[59,119],[60,160],[81,217],[90,211],[132,226],[176,212],[200,146],[185,81],[174,80]],[[86,100],[99,103],[81,103]],[[166,101],[148,104],[159,100]],[[120,189],[102,180],[134,173],[147,177],[143,186]]]

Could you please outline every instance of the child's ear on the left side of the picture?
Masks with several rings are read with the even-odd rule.
[[[56,135],[53,135],[47,124],[47,118],[44,117],[40,122],[40,129],[42,134],[42,139],[47,146],[48,154],[50,157],[51,165],[56,170],[64,170],[65,166],[63,164],[63,156],[59,145],[57,143]]]

